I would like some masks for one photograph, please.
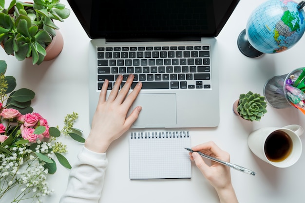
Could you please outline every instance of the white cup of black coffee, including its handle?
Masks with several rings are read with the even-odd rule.
[[[263,161],[286,168],[295,164],[302,154],[300,125],[287,125],[283,128],[266,127],[253,131],[248,136],[250,150]]]

